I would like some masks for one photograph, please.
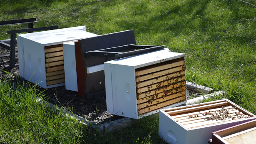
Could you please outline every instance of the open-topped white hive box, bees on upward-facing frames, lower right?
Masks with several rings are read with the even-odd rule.
[[[172,144],[206,144],[214,131],[255,119],[228,99],[160,110],[159,136]]]

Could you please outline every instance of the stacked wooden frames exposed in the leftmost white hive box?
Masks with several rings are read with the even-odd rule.
[[[62,44],[45,47],[45,71],[47,86],[65,82]]]

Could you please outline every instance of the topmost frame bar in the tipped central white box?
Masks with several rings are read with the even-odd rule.
[[[144,74],[149,74],[149,73],[152,73],[152,72],[157,72],[157,71],[161,71],[161,70],[170,69],[172,67],[178,67],[178,66],[181,66],[181,65],[185,65],[184,60],[180,61],[180,62],[174,62],[174,63],[171,63],[171,64],[152,67],[152,68],[149,68],[149,69],[146,69],[146,70],[136,71],[136,77],[144,75]]]

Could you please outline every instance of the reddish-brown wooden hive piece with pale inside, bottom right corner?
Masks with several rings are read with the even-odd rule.
[[[213,132],[209,144],[256,144],[256,119]]]

